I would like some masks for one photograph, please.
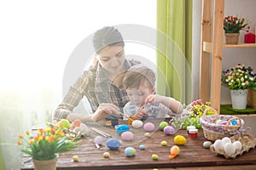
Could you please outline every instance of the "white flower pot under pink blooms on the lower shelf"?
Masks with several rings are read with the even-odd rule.
[[[247,108],[247,91],[247,89],[230,90],[233,109],[242,110]]]

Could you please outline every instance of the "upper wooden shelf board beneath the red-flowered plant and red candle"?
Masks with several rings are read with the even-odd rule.
[[[255,48],[256,43],[223,44],[223,48]],[[212,42],[203,42],[203,50],[212,53]]]

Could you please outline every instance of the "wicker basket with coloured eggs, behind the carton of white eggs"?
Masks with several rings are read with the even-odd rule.
[[[218,125],[215,122],[220,119],[227,121],[226,125]],[[236,125],[230,125],[230,122],[236,120]],[[244,121],[236,116],[229,115],[214,115],[214,116],[201,116],[201,127],[206,139],[215,141],[217,139],[223,139],[224,137],[230,137],[236,133],[239,133],[240,128],[243,126]]]

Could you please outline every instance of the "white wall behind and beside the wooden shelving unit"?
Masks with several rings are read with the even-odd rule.
[[[212,0],[212,3],[214,0]],[[199,98],[199,76],[200,76],[200,48],[201,48],[201,3],[202,0],[193,1],[193,93],[194,99]],[[238,15],[251,20],[251,31],[255,32],[256,15],[255,0],[225,0],[224,16]],[[213,7],[213,5],[212,5]],[[213,8],[212,8],[213,11]],[[240,32],[240,42],[244,41],[245,31]],[[256,71],[256,48],[224,48],[223,49],[223,69],[227,69],[237,65],[238,63],[251,66]],[[230,91],[227,88],[221,88],[221,103],[229,104]]]

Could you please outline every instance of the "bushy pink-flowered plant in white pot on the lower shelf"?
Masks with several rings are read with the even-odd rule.
[[[222,72],[222,85],[230,89],[232,108],[246,109],[247,89],[253,86],[255,75],[252,67],[238,64]]]

